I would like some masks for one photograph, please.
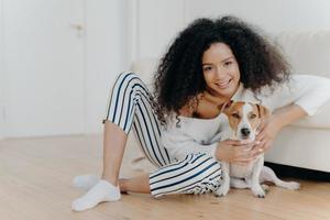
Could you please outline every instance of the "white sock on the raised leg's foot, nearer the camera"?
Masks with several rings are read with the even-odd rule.
[[[89,191],[76,199],[72,209],[75,211],[84,211],[96,207],[102,201],[117,201],[121,197],[119,186],[113,186],[103,179],[99,180]]]

